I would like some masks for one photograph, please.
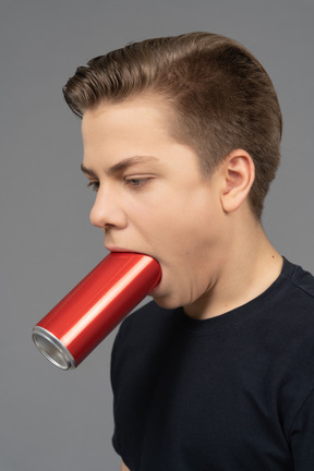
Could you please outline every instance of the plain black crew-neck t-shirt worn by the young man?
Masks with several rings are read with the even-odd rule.
[[[314,278],[195,321],[154,302],[112,351],[113,446],[131,471],[314,470]]]

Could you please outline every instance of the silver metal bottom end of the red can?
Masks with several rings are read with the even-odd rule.
[[[67,347],[49,330],[35,326],[32,338],[38,350],[61,370],[73,370],[76,363]]]

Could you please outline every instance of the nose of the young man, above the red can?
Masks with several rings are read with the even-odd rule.
[[[123,229],[126,226],[126,215],[122,209],[117,193],[114,194],[113,191],[100,185],[89,219],[93,226],[101,229],[108,229],[109,227]]]

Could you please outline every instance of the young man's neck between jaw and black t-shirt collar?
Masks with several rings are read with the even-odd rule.
[[[230,230],[231,229],[231,230]],[[282,257],[254,218],[232,224],[218,256],[217,278],[210,289],[189,306],[194,318],[215,317],[252,301],[278,278]],[[227,249],[226,249],[227,247]]]

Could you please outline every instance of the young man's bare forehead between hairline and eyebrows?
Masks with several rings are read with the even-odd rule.
[[[170,131],[172,117],[169,104],[152,95],[86,110],[82,120],[85,164],[111,166],[130,156],[169,159],[173,144],[179,144]]]

